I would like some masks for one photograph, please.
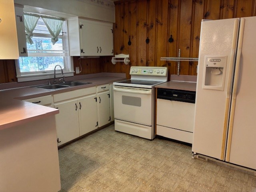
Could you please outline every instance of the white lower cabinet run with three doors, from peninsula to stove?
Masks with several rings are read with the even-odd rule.
[[[109,84],[53,95],[58,146],[111,121]]]

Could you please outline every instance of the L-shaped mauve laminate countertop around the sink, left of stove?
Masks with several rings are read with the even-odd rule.
[[[108,74],[110,76],[107,76]],[[33,104],[22,100],[67,92],[81,88],[88,88],[100,84],[107,84],[126,79],[125,75],[117,74],[115,76],[113,73],[100,73],[95,75],[90,74],[83,77],[85,78],[78,79],[76,76],[76,79],[74,80],[90,82],[90,84],[58,90],[43,90],[39,88],[33,88],[31,86],[0,90],[0,130],[59,113],[58,109]]]

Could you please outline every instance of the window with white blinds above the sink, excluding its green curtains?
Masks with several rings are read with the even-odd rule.
[[[20,57],[16,61],[18,81],[53,78],[54,67],[60,65],[65,76],[73,76],[68,55],[67,24],[64,21],[58,41],[53,44],[52,36],[40,17],[31,38],[33,44],[27,42],[28,57]],[[57,71],[58,70],[58,71]],[[56,74],[60,68],[56,68]]]

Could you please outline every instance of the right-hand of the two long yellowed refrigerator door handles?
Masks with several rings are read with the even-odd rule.
[[[230,160],[233,122],[234,122],[234,114],[235,114],[235,107],[236,107],[236,91],[237,91],[237,86],[238,86],[240,58],[241,58],[241,54],[242,54],[242,43],[243,43],[243,36],[244,36],[244,22],[245,22],[245,19],[242,18],[240,21],[239,38],[238,38],[238,46],[237,46],[238,50],[237,50],[237,55],[236,55],[236,67],[235,67],[234,84],[233,84],[233,91],[232,91],[232,102],[231,102],[231,107],[230,107],[230,120],[229,120],[227,149],[226,149],[226,161],[227,162],[229,162],[229,160]]]

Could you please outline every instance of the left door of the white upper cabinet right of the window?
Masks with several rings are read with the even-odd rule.
[[[100,46],[98,45],[98,25],[80,20],[82,29],[81,34],[81,47],[84,56],[99,56]]]

